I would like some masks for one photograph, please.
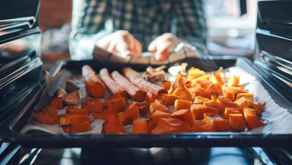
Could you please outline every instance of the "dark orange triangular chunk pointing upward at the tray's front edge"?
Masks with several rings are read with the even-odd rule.
[[[120,122],[118,115],[111,114],[110,117],[104,122],[102,132],[108,134],[126,133],[124,125]]]

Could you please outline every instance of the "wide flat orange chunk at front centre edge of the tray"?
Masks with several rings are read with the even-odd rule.
[[[166,125],[176,129],[176,132],[190,132],[191,126],[186,122],[177,118],[160,118],[157,122],[157,127]]]

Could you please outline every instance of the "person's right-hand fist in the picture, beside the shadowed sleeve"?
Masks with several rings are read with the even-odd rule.
[[[187,41],[178,38],[172,33],[164,33],[150,43],[148,51],[154,54],[154,58],[157,61],[164,61],[181,42],[187,43]]]

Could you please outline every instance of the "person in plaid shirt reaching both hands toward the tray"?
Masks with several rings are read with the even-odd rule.
[[[72,59],[91,58],[94,46],[122,57],[144,51],[164,61],[179,43],[204,55],[203,0],[73,0]]]

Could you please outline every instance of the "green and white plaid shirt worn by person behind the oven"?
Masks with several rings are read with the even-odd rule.
[[[143,51],[156,37],[173,33],[207,53],[202,0],[73,0],[73,59],[91,58],[97,40],[117,30],[132,33]]]

